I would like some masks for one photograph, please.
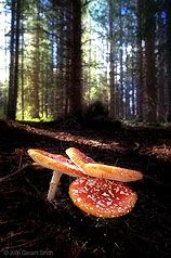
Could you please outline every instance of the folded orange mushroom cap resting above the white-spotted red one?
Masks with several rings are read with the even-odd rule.
[[[76,165],[82,169],[86,175],[91,177],[121,182],[131,182],[143,178],[143,175],[136,170],[96,164],[94,160],[92,163],[90,157],[87,157],[83,153],[75,147],[67,149],[66,154]]]

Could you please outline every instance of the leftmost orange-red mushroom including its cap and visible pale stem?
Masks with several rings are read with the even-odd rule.
[[[84,173],[71,160],[62,155],[51,154],[41,150],[28,150],[29,156],[42,167],[53,170],[52,180],[48,193],[48,199],[53,201],[60,179],[63,173],[71,177],[82,177]]]

